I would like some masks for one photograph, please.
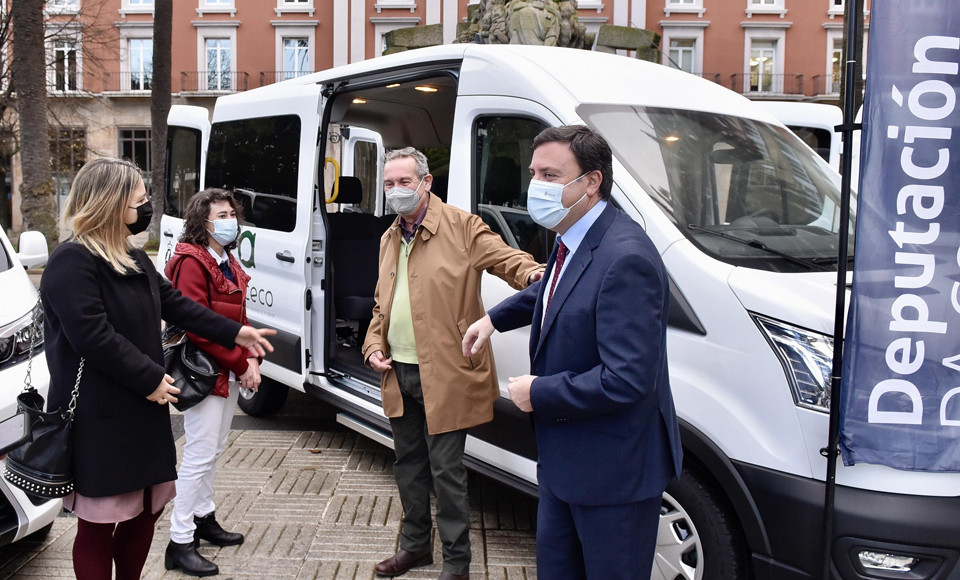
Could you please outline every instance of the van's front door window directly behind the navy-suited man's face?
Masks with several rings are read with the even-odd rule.
[[[481,117],[474,129],[476,213],[504,241],[546,262],[553,232],[527,213],[533,138],[546,125],[522,117]]]

